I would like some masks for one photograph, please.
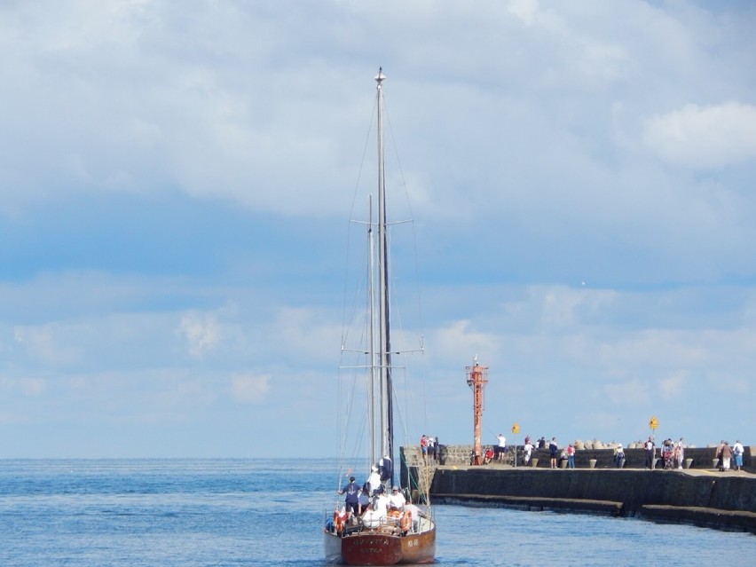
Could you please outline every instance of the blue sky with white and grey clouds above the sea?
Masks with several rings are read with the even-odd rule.
[[[0,458],[335,455],[378,67],[413,443],[472,443],[476,357],[484,442],[657,416],[756,443],[754,28],[734,1],[0,4]]]

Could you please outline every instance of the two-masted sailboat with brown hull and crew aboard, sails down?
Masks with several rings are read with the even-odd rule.
[[[370,463],[372,475],[366,470],[368,482],[362,491],[367,492],[366,509],[359,512],[336,508],[333,517],[327,516],[323,530],[327,563],[348,565],[394,565],[433,563],[436,557],[436,523],[426,490],[407,490],[406,503],[400,508],[387,508],[384,492],[397,494],[394,485],[394,388],[391,382],[390,304],[389,304],[389,250],[387,237],[386,187],[383,164],[383,82],[386,80],[379,69],[375,76],[378,138],[378,217],[373,222],[373,213],[368,225],[369,280],[367,295],[369,305],[369,333],[366,388],[371,399],[370,410]],[[372,209],[372,207],[371,207]],[[378,247],[373,242],[377,228]],[[377,264],[377,271],[375,270]],[[374,285],[375,284],[375,285]],[[374,301],[374,297],[377,302]],[[377,313],[375,303],[378,303]],[[377,399],[375,399],[377,398]],[[380,445],[380,452],[379,452]],[[370,482],[378,476],[380,484]],[[347,473],[346,476],[349,476]],[[341,476],[340,476],[341,479]],[[376,479],[377,480],[377,479]],[[378,484],[377,486],[375,484]],[[412,482],[407,479],[405,488]],[[349,485],[347,485],[349,486]],[[353,487],[348,489],[353,490]],[[413,499],[418,500],[417,502]],[[390,500],[395,502],[396,500]]]

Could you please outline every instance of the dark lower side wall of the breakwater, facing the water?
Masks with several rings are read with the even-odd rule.
[[[437,467],[431,500],[637,516],[756,534],[756,477],[639,469]]]

